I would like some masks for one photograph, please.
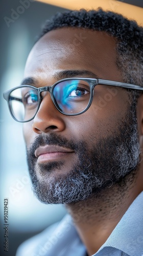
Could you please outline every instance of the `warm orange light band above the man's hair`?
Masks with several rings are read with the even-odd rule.
[[[104,10],[121,13],[129,19],[134,19],[143,26],[143,8],[129,5],[115,0],[36,0],[50,5],[59,6],[69,10],[97,9],[102,7]]]

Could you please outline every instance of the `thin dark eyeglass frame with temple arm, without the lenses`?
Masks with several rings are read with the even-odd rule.
[[[89,98],[89,102],[88,102],[88,105],[86,107],[85,110],[79,112],[79,113],[76,113],[76,114],[66,114],[64,113],[58,106],[55,98],[54,98],[54,95],[53,95],[53,90],[55,88],[55,86],[59,83],[59,82],[62,82],[62,81],[67,81],[67,80],[83,80],[83,81],[86,81],[88,82],[89,86],[90,86],[90,98]],[[98,84],[101,84],[101,85],[104,85],[104,86],[115,86],[115,87],[122,87],[122,88],[128,88],[128,89],[133,89],[133,90],[140,90],[140,91],[143,91],[143,87],[141,86],[137,86],[135,84],[131,84],[131,83],[124,83],[124,82],[117,82],[117,81],[112,81],[112,80],[104,80],[104,79],[96,79],[96,78],[81,78],[81,77],[74,77],[74,78],[64,78],[64,79],[61,79],[59,81],[57,81],[56,83],[54,83],[52,86],[45,86],[45,87],[34,87],[34,86],[30,86],[30,85],[22,85],[22,86],[18,86],[18,87],[15,87],[13,89],[10,89],[6,92],[3,93],[3,96],[4,96],[4,99],[7,101],[8,103],[8,108],[9,108],[9,111],[10,111],[10,114],[11,116],[13,117],[13,119],[17,122],[21,122],[21,123],[24,123],[24,122],[29,122],[31,121],[32,119],[34,119],[34,117],[36,116],[38,110],[39,110],[39,107],[40,107],[40,104],[41,104],[41,101],[42,101],[42,97],[41,97],[41,93],[42,92],[49,92],[51,94],[51,99],[56,107],[56,109],[62,113],[63,115],[66,115],[66,116],[77,116],[77,115],[81,115],[83,114],[84,112],[86,112],[91,103],[92,103],[92,99],[93,99],[93,93],[94,93],[94,87],[97,86]],[[9,97],[10,97],[10,94],[16,90],[16,89],[19,89],[19,88],[22,88],[22,87],[30,87],[30,88],[34,88],[37,93],[38,93],[38,106],[37,106],[37,111],[35,113],[35,115],[27,120],[27,121],[18,121],[12,114],[12,111],[11,111],[11,108],[10,108],[10,101],[9,101]]]

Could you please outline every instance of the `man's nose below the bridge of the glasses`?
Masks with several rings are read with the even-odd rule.
[[[65,129],[64,115],[55,107],[50,93],[43,97],[33,120],[33,131],[37,134],[62,132]]]

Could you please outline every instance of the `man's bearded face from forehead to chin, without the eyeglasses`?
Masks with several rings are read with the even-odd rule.
[[[51,31],[29,55],[25,78],[35,83],[29,79],[27,84],[52,86],[66,77],[122,81],[115,47],[115,39],[104,32]],[[78,116],[61,114],[50,93],[44,92],[37,115],[23,125],[29,170],[39,199],[76,202],[136,169],[135,121],[128,93],[122,88],[97,86],[90,108]]]

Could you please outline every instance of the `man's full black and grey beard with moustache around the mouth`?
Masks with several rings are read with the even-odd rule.
[[[62,169],[64,161],[36,165],[34,152],[40,145],[54,144],[71,148],[78,155],[70,172],[63,175],[51,173]],[[37,198],[49,204],[69,204],[100,195],[100,191],[121,182],[123,177],[133,173],[139,163],[139,141],[136,115],[128,111],[125,120],[113,131],[112,137],[100,139],[89,150],[85,141],[69,141],[54,134],[39,135],[27,150],[29,172],[33,191]],[[35,169],[41,177],[38,179]]]

